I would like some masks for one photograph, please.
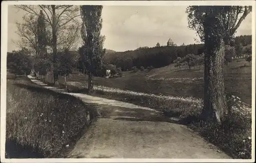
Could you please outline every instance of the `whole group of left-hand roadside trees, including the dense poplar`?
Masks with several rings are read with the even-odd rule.
[[[23,23],[16,22],[21,38],[16,44],[34,54],[35,72],[41,75],[53,72],[55,84],[58,75],[66,81],[73,69],[82,67],[89,76],[91,92],[93,76],[101,68],[105,53],[105,37],[100,35],[102,6],[17,5],[16,8],[27,13]],[[79,30],[83,44],[76,52]]]

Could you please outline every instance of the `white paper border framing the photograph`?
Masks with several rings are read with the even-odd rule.
[[[124,159],[30,158],[6,159],[6,56],[8,5],[103,5],[103,6],[252,6],[252,159]],[[255,161],[255,5],[256,1],[3,1],[1,4],[1,162],[254,162]]]

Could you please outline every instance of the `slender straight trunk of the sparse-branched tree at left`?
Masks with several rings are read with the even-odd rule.
[[[56,55],[57,55],[57,35],[56,35],[56,13],[55,5],[52,7],[52,44],[53,44],[53,83],[58,80],[58,74],[56,72]]]

